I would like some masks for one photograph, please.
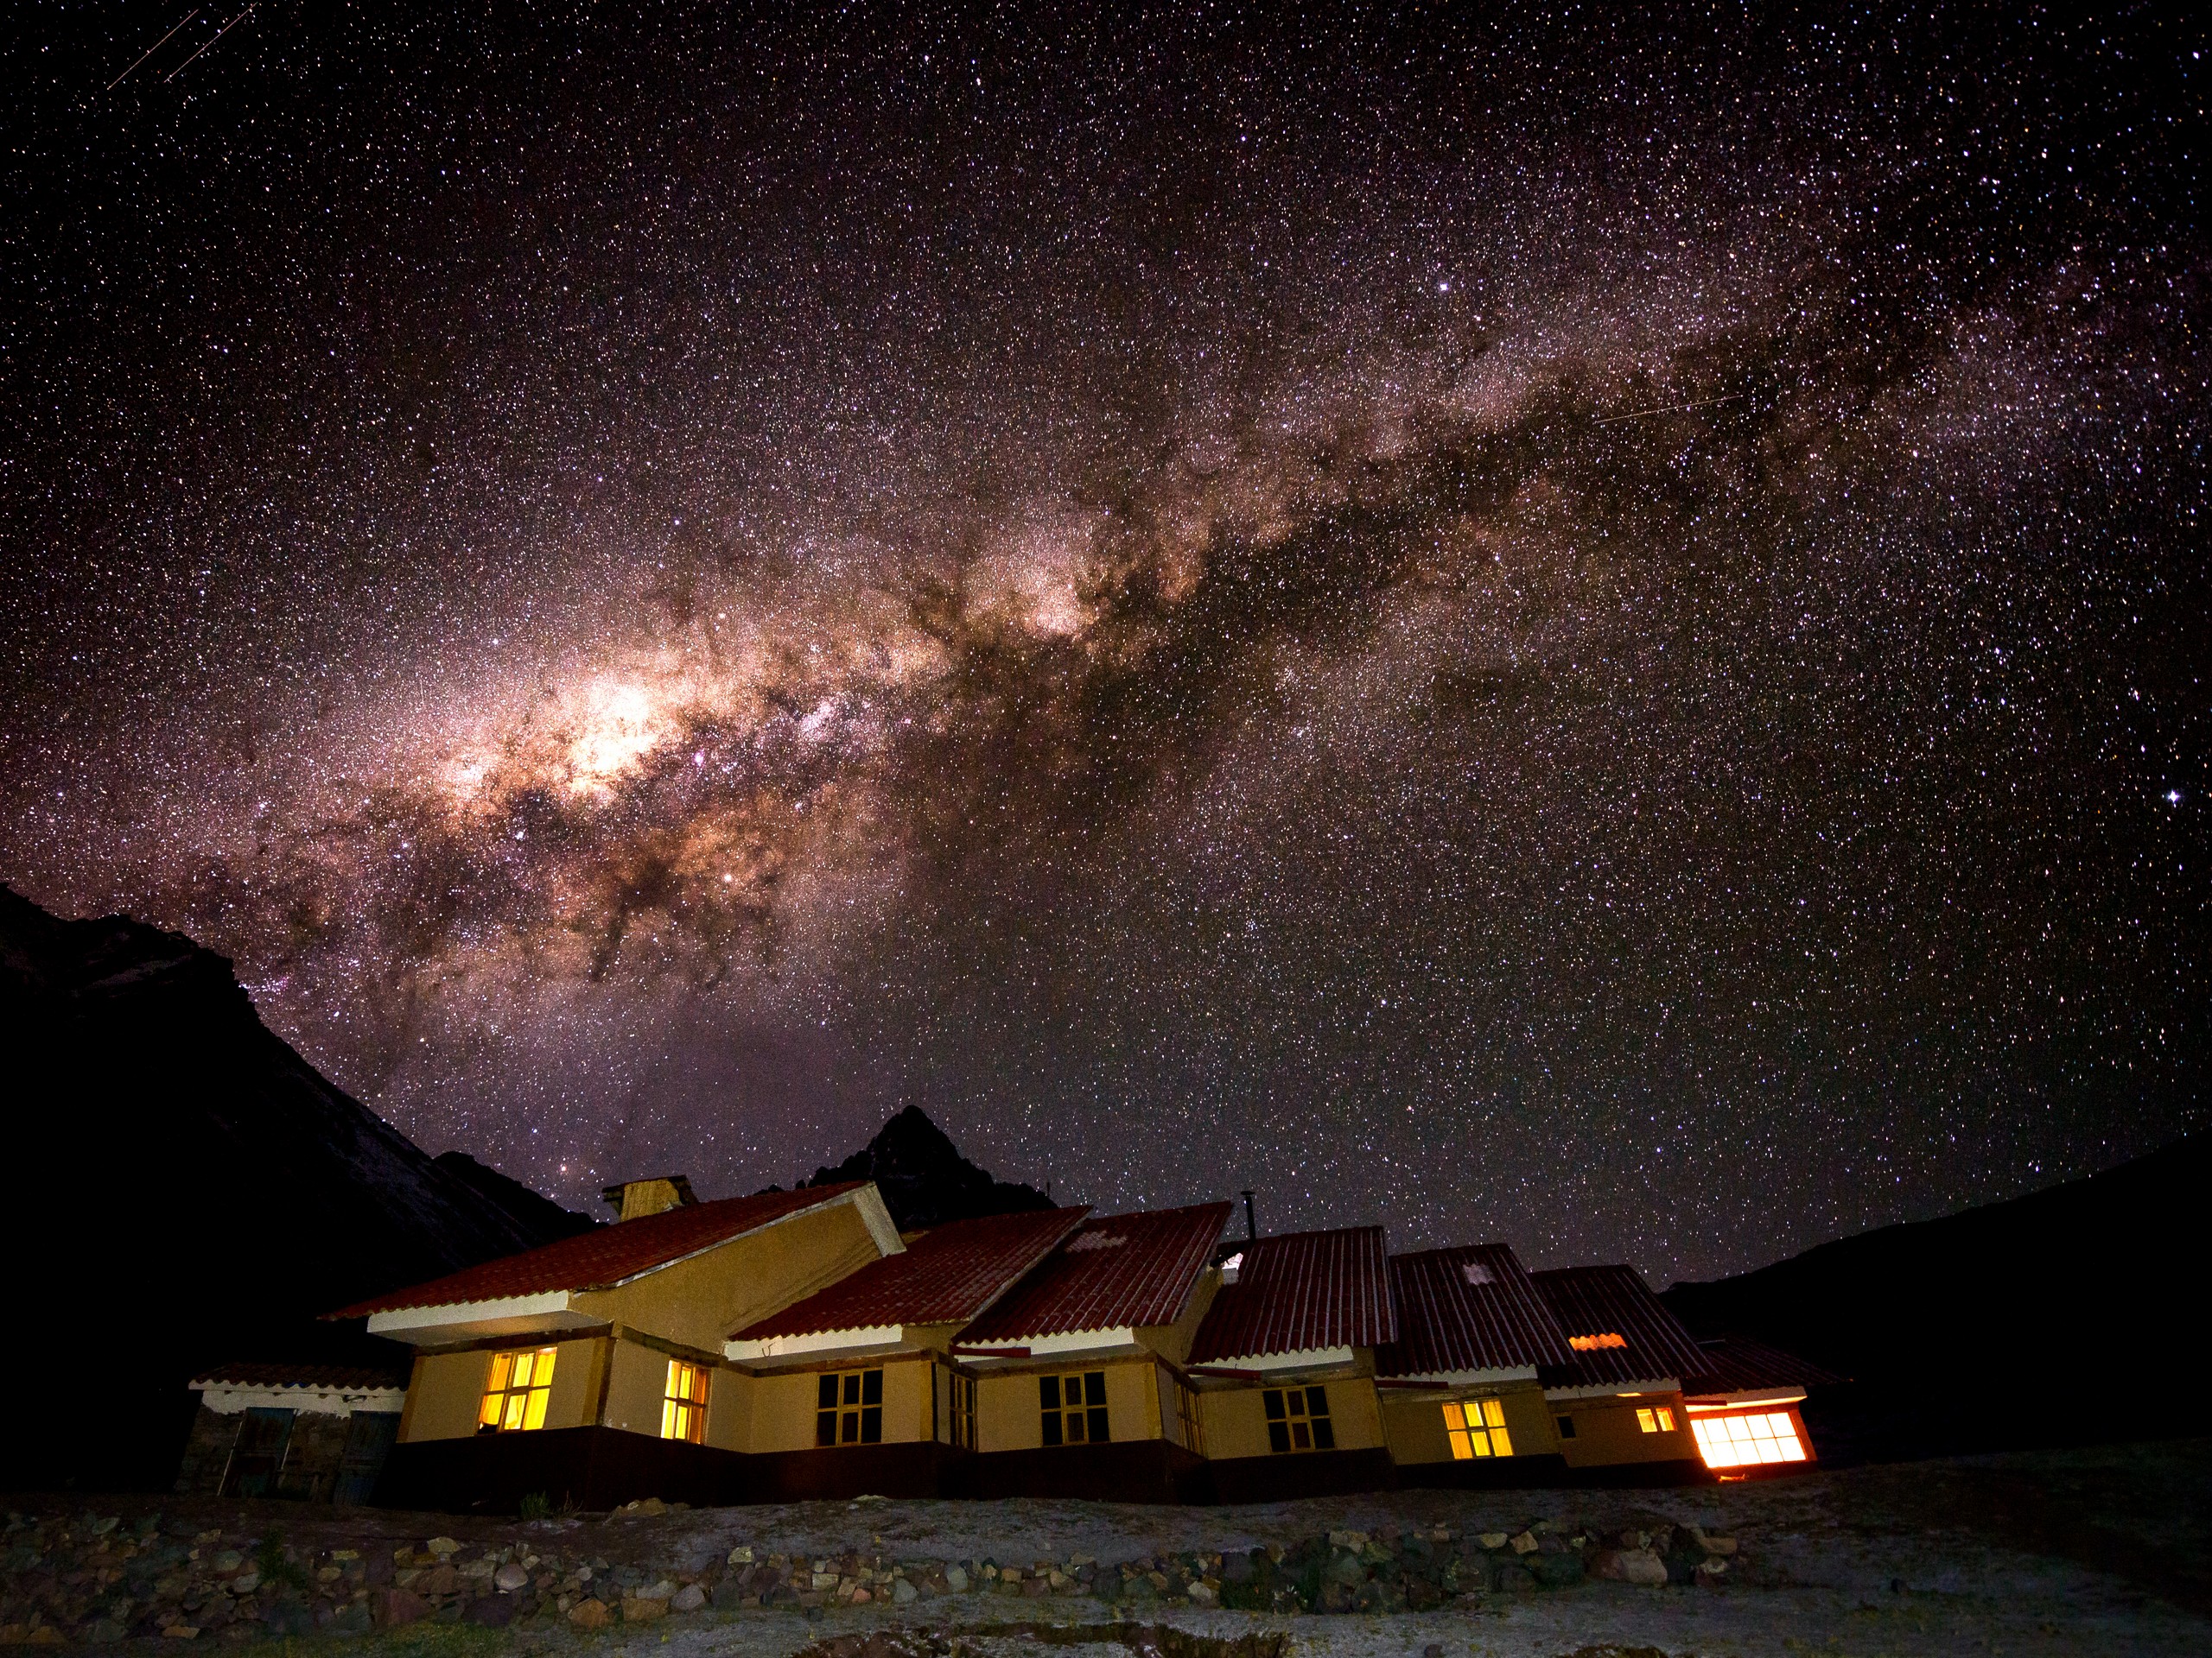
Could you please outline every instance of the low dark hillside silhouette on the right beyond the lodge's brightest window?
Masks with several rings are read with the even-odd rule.
[[[2081,1384],[2185,1353],[2199,1304],[2201,1136],[2104,1174],[1880,1227],[1772,1267],[1661,1293],[1697,1335],[1750,1335],[1838,1375],[1807,1426],[1827,1461],[2201,1433]]]

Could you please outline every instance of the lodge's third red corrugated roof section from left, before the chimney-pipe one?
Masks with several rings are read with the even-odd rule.
[[[962,1342],[1172,1324],[1212,1260],[1230,1205],[1113,1214],[1084,1227],[1015,1284]]]

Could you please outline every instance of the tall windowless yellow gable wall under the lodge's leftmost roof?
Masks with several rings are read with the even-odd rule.
[[[591,1318],[721,1353],[741,1324],[768,1318],[876,1258],[860,1209],[832,1203],[650,1271],[633,1284],[586,1291],[573,1304]]]

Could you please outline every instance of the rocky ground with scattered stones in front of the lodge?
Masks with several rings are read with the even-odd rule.
[[[586,1658],[2203,1654],[2212,1441],[1668,1492],[533,1521],[13,1499],[0,1640]]]

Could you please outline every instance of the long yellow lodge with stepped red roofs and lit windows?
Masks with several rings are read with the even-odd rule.
[[[414,1349],[403,1391],[206,1377],[190,1488],[319,1494],[285,1486],[285,1435],[389,1441],[332,1492],[509,1512],[1672,1483],[1807,1463],[1796,1406],[1829,1379],[1701,1346],[1628,1267],[1531,1273],[1500,1242],[1223,1242],[1228,1203],[900,1236],[872,1183],[611,1200],[611,1227],[332,1313]]]

